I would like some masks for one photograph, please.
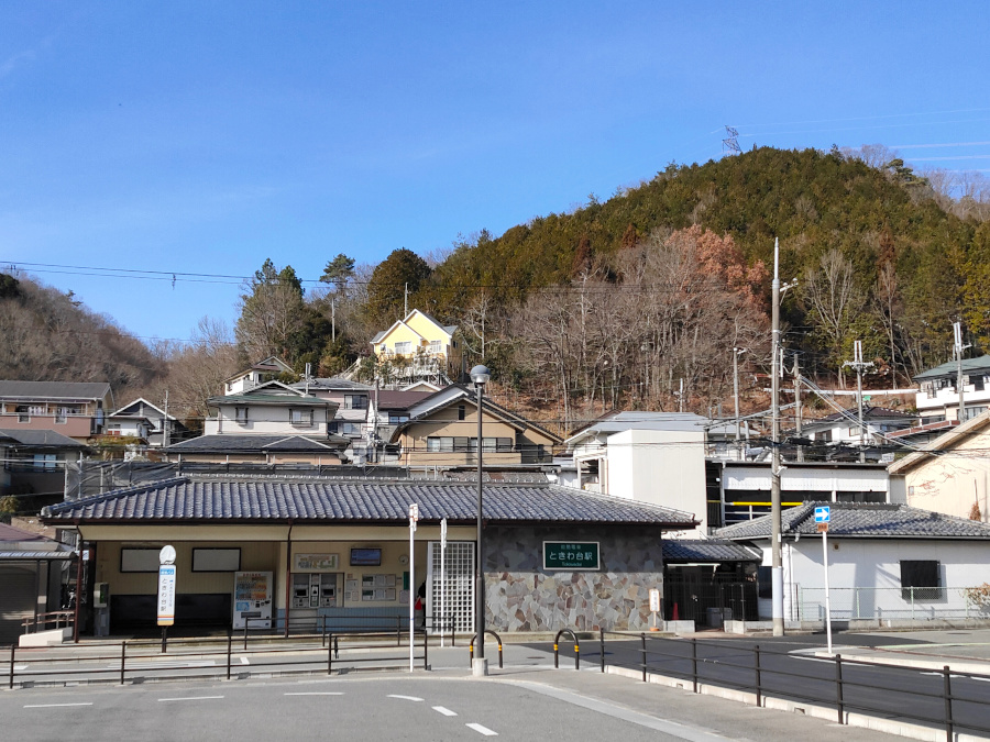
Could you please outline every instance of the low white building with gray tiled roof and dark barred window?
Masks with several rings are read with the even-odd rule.
[[[906,505],[806,502],[781,516],[784,619],[824,620],[825,572],[815,507],[831,509],[828,580],[832,618],[895,627],[983,616],[967,589],[990,583],[990,525]],[[759,571],[762,619],[771,614],[770,517],[718,532],[763,552]]]

